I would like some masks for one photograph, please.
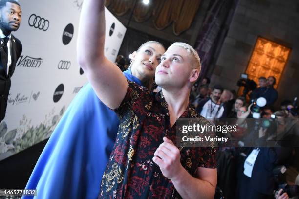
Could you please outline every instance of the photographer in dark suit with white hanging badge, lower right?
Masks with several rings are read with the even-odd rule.
[[[282,111],[274,113],[277,118],[284,117]],[[266,129],[262,127],[258,131],[257,142],[265,140]],[[238,179],[238,198],[240,199],[273,199],[273,191],[276,189],[276,180],[273,170],[279,165],[286,165],[292,156],[290,147],[260,147],[252,148],[246,153],[247,158],[243,164],[239,165]],[[256,159],[250,163],[249,157],[255,156]],[[248,169],[251,168],[251,169]],[[250,172],[248,172],[250,171]],[[277,196],[279,199],[287,199],[288,196],[281,192]]]

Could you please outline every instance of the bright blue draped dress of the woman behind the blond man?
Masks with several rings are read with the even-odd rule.
[[[130,70],[124,75],[141,85]],[[117,115],[85,85],[50,136],[26,189],[37,189],[38,199],[96,199],[118,125]]]

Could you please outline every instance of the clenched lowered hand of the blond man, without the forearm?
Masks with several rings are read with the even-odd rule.
[[[180,150],[170,139],[163,137],[163,140],[164,142],[157,148],[152,160],[160,167],[165,177],[173,179],[184,169],[181,165]]]

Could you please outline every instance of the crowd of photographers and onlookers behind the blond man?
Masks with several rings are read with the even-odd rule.
[[[212,120],[215,118],[252,118],[252,102],[259,97],[264,97],[267,103],[260,109],[261,118],[298,118],[296,100],[286,99],[280,104],[280,109],[274,108],[273,105],[278,98],[278,92],[274,88],[275,84],[276,79],[273,76],[260,77],[255,90],[246,96],[237,97],[235,90],[228,90],[220,85],[211,86],[210,79],[205,77],[200,84],[193,86],[190,103],[203,117]],[[296,121],[297,124],[293,125],[292,131],[298,138],[299,124],[298,120]],[[296,165],[299,153],[297,149],[292,147],[258,149],[259,155],[256,158],[255,169],[252,176],[248,177],[243,174],[244,161],[256,149],[220,147],[217,154],[217,187],[225,198],[229,199],[271,199],[274,196],[276,199],[288,199],[289,196],[285,190],[278,188],[273,169],[279,165],[285,165],[287,168],[295,167],[295,170],[299,171],[299,167]],[[295,172],[295,178],[297,174]],[[297,178],[298,181],[299,175]],[[276,195],[274,195],[275,193]]]

